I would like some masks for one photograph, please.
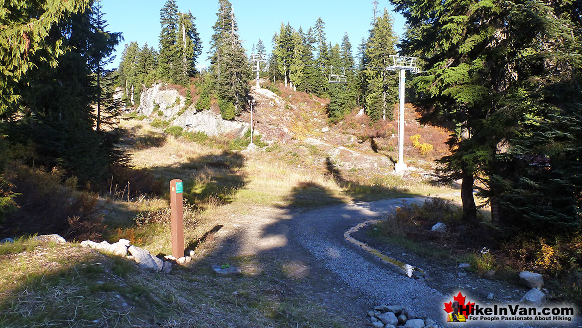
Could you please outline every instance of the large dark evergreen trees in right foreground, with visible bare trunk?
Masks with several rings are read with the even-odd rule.
[[[425,57],[423,122],[453,131],[442,180],[462,179],[464,218],[476,217],[476,178],[518,223],[579,227],[579,17],[558,2],[393,3],[403,52]]]

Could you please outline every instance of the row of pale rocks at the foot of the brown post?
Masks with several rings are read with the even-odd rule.
[[[134,260],[140,267],[154,271],[161,271],[163,273],[170,273],[172,271],[172,262],[187,263],[192,260],[190,256],[184,256],[182,258],[176,259],[171,255],[166,255],[164,258],[165,260],[162,260],[157,256],[151,255],[149,251],[146,251],[143,248],[130,245],[129,240],[127,239],[119,239],[118,242],[113,244],[109,244],[107,241],[94,242],[86,240],[81,242],[81,246],[97,249],[101,252],[112,253],[118,256],[126,256],[128,259]],[[130,255],[128,255],[128,253]],[[189,254],[193,255],[194,252],[190,251]]]

